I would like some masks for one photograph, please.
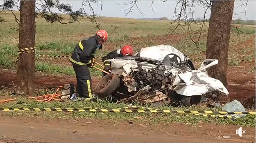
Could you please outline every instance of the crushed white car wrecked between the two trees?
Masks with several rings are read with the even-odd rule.
[[[192,60],[172,46],[141,48],[136,56],[111,59],[111,73],[98,82],[95,93],[118,102],[191,106],[217,97],[217,91],[229,94],[207,74],[206,68],[215,64],[217,59],[206,59],[195,70]]]

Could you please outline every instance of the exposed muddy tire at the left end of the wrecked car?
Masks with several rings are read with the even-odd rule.
[[[95,93],[98,97],[104,98],[111,95],[119,85],[120,78],[113,73],[109,73],[97,83]]]

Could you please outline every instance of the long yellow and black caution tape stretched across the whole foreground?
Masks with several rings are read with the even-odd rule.
[[[184,111],[155,109],[97,109],[97,108],[0,108],[1,111],[63,111],[63,112],[150,112],[150,113],[193,113],[193,114],[255,114],[255,112],[227,111]]]

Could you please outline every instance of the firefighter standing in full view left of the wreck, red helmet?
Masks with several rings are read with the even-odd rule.
[[[102,44],[108,39],[108,34],[105,30],[97,31],[94,36],[86,40],[80,41],[75,47],[69,61],[75,70],[77,78],[76,97],[70,99],[77,101],[93,101],[91,75],[88,68],[93,67],[94,55],[96,49],[102,49]],[[92,100],[91,100],[92,99]]]

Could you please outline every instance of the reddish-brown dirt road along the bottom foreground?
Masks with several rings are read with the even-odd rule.
[[[255,143],[255,128],[198,123],[111,122],[0,117],[0,143]],[[222,136],[230,136],[224,139]]]

